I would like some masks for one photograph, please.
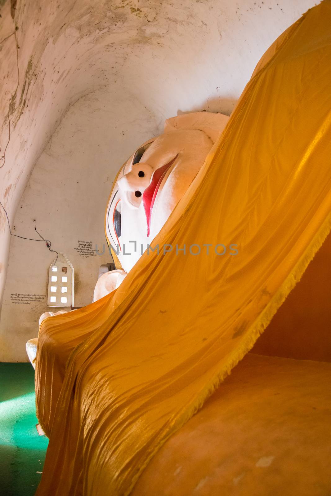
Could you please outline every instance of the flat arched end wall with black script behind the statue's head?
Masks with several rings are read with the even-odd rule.
[[[99,265],[112,261],[103,219],[117,169],[131,154],[123,149],[146,141],[157,128],[139,101],[132,101],[130,115],[124,106],[125,100],[110,102],[104,91],[73,104],[34,166],[15,215],[14,233],[36,237],[37,224],[52,248],[66,253],[74,266],[76,307],[92,302]],[[140,119],[139,129],[128,129],[128,122]],[[79,240],[92,242],[94,253],[97,246],[104,254],[79,254]],[[25,361],[24,343],[38,335],[39,316],[56,311],[47,307],[48,271],[55,256],[42,242],[11,240],[0,321],[2,360]],[[17,293],[32,299],[27,304],[26,296]],[[33,295],[44,297],[33,301]]]

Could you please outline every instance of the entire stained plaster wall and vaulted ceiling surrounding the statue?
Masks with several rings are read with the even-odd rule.
[[[313,4],[18,0],[14,8],[0,0],[0,155],[8,110],[11,124],[0,201],[14,233],[34,235],[36,219],[43,236],[66,252],[80,280],[77,305],[88,302],[102,257],[79,258],[74,248],[82,238],[103,241],[117,168],[167,117],[230,113],[266,48]],[[36,315],[46,309],[35,305],[22,318],[10,293],[44,293],[53,257],[42,243],[10,239],[2,210],[0,236],[0,295],[7,274],[0,360],[20,361],[26,339],[36,335]]]

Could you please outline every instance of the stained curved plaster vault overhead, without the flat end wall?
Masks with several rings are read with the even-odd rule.
[[[106,129],[113,179],[166,118],[229,114],[266,48],[314,3],[0,0],[0,201],[10,224],[34,165],[75,103],[97,102],[100,119],[80,125]],[[10,235],[0,210],[2,295]],[[19,233],[34,235],[33,227],[22,224]]]

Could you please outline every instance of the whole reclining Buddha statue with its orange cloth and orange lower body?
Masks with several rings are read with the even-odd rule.
[[[330,24],[276,40],[220,139],[170,119],[120,170],[116,270],[41,317],[38,496],[330,495]]]

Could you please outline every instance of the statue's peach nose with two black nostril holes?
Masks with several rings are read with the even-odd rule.
[[[150,185],[153,169],[143,162],[132,165],[128,174],[118,179],[117,184],[123,193],[127,203],[132,207],[138,207],[145,189]]]

